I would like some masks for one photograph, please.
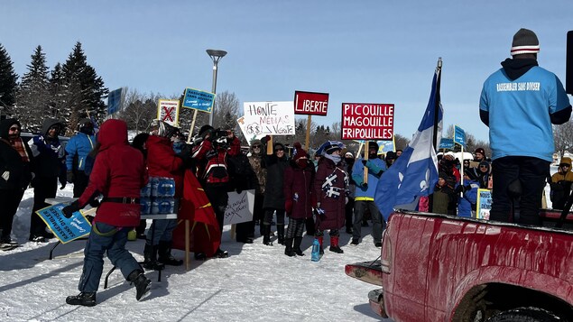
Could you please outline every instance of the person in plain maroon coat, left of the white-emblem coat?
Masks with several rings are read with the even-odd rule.
[[[309,153],[300,143],[294,143],[290,167],[284,170],[284,208],[289,217],[284,254],[304,256],[300,250],[302,233],[307,218],[312,217],[311,196],[314,180],[314,164],[309,161]],[[294,245],[292,244],[294,242]]]

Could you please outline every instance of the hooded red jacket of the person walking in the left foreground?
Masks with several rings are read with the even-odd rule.
[[[100,143],[88,188],[79,197],[79,207],[85,207],[97,193],[106,198],[139,198],[147,183],[143,154],[127,142],[127,124],[121,120],[107,120],[97,134]],[[103,202],[97,207],[94,222],[118,227],[139,225],[139,203]]]

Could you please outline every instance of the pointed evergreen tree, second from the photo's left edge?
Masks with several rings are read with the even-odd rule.
[[[22,83],[17,94],[17,108],[14,114],[22,124],[23,129],[29,132],[39,132],[42,129],[42,120],[46,116],[55,116],[50,113],[50,90],[46,55],[42,46],[36,47],[32,54],[32,62],[26,66],[28,71],[23,75]]]

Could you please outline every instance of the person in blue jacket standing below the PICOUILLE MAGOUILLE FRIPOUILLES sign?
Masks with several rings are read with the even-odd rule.
[[[368,143],[368,159],[358,158],[352,168],[352,179],[356,182],[356,192],[354,198],[354,226],[352,229],[352,243],[354,245],[360,244],[362,237],[362,219],[366,209],[370,211],[372,216],[372,237],[376,247],[382,247],[382,230],[384,229],[385,222],[380,210],[374,204],[374,193],[378,180],[386,170],[385,162],[377,157],[378,144],[373,142]],[[368,170],[368,181],[364,181],[365,168]]]

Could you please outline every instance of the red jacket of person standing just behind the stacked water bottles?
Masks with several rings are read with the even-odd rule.
[[[147,147],[147,172],[152,177],[165,177],[175,180],[175,198],[183,195],[183,159],[175,156],[173,143],[162,136],[150,135],[145,142]]]

